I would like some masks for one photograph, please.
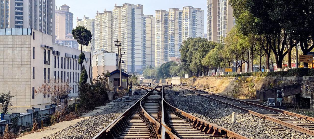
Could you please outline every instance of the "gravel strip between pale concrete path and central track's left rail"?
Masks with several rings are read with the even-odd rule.
[[[138,88],[134,88],[138,89]],[[142,90],[145,94],[146,91]],[[135,103],[142,95],[130,96]],[[63,129],[46,138],[49,139],[91,139],[109,125],[113,120],[111,117],[122,114],[123,108],[132,106],[133,103],[114,103],[103,111],[93,114],[89,119],[82,120],[75,125]]]

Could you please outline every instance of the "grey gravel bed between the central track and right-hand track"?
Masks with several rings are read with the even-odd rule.
[[[285,131],[272,129],[272,127],[284,127],[226,104],[196,95],[193,92],[181,90],[178,87],[174,88],[176,92],[180,92],[179,96],[175,96],[175,91],[172,89],[165,89],[168,103],[198,118],[234,131],[242,136],[252,139],[314,139],[312,136],[287,128]],[[236,123],[231,123],[232,112],[236,112]]]

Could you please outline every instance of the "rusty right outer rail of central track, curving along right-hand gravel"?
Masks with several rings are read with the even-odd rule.
[[[169,103],[165,100],[165,98],[164,98],[164,87],[166,87],[166,86],[163,86],[163,87],[162,87],[162,94],[163,94],[162,100],[163,100],[163,102],[164,102],[165,104],[167,104],[168,106],[170,106],[170,108],[172,108],[172,109],[175,110],[176,112],[181,113],[181,115],[183,115],[184,117],[186,117],[186,118],[188,118],[188,119],[194,121],[194,122],[193,122],[193,125],[195,125],[195,127],[199,127],[202,131],[208,131],[209,129],[212,129],[212,130],[215,131],[215,134],[218,134],[218,132],[219,132],[219,133],[221,133],[221,134],[225,134],[227,137],[231,137],[231,138],[235,138],[235,139],[248,139],[248,138],[245,137],[245,136],[242,136],[242,135],[240,135],[240,134],[238,134],[238,133],[235,133],[235,132],[233,132],[233,131],[229,131],[229,130],[223,128],[223,127],[220,127],[220,126],[215,125],[215,124],[213,124],[213,123],[210,123],[210,122],[208,122],[208,121],[205,121],[205,120],[202,120],[202,119],[200,119],[200,118],[197,118],[197,117],[195,117],[195,116],[193,116],[193,115],[191,115],[191,114],[189,114],[189,113],[187,113],[187,112],[184,112],[184,111],[182,111],[182,110],[180,110],[180,109],[178,109],[178,108],[172,106],[172,105],[169,104]],[[164,103],[163,103],[163,104],[164,104]],[[163,106],[163,107],[164,107],[164,106]],[[168,126],[165,124],[164,121],[162,122],[162,125],[165,126],[165,127],[168,127]],[[168,127],[167,129],[171,132],[171,128]],[[169,132],[169,131],[168,131],[168,132]],[[172,133],[172,132],[171,132],[171,133]],[[168,134],[169,134],[169,133],[168,133]],[[174,134],[172,133],[171,135],[174,135]],[[170,136],[170,135],[169,135],[169,136]],[[175,136],[175,137],[173,137],[173,138],[171,138],[171,139],[178,139],[178,137]]]

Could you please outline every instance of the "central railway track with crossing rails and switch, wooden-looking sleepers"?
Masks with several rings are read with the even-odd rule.
[[[163,98],[164,86],[138,87],[150,91],[98,133],[95,139],[246,138],[171,106]]]

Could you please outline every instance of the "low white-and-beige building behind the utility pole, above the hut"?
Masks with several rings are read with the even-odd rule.
[[[112,72],[118,67],[118,54],[110,53],[108,51],[97,51],[93,53],[93,79],[96,79],[98,75],[102,73]]]

